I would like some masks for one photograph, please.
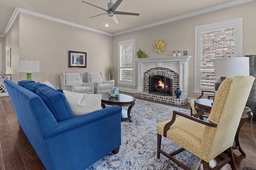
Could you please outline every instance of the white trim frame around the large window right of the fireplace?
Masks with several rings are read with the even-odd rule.
[[[242,50],[243,50],[243,18],[242,17],[195,27],[195,84],[194,84],[195,95],[201,95],[201,90],[207,90],[207,89],[200,89],[200,49],[199,49],[200,33],[205,31],[212,31],[216,29],[222,29],[223,27],[228,27],[229,25],[232,27],[235,27],[235,57],[242,57]]]

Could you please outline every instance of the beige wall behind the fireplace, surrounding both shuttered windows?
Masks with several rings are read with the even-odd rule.
[[[142,29],[139,31],[134,31],[131,33],[126,33],[122,35],[116,35],[113,37],[113,57],[117,61],[117,47],[118,41],[124,41],[128,39],[136,39],[136,51],[139,48],[148,55],[148,57],[167,57],[172,56],[172,50],[182,50],[188,51],[188,55],[192,58],[189,61],[189,98],[197,98],[194,95],[194,34],[195,27],[199,25],[204,25],[208,23],[214,23],[218,21],[230,20],[234,18],[243,17],[243,55],[256,54],[256,1],[244,3],[241,5],[224,8],[222,10],[216,10],[214,12],[208,12],[206,14],[201,14],[198,16],[193,16],[190,18],[185,18],[182,20],[173,21],[170,23],[158,25],[155,27],[150,27]],[[166,51],[162,54],[154,52],[153,45],[156,40],[164,40],[167,43]],[[183,53],[182,53],[183,54]],[[115,65],[116,72],[117,63]],[[136,70],[137,72],[137,70]],[[117,75],[115,77],[117,79]],[[137,73],[136,73],[137,81]],[[119,86],[119,85],[118,85]],[[119,86],[123,88],[131,88],[128,86]],[[137,89],[137,86],[133,89]]]

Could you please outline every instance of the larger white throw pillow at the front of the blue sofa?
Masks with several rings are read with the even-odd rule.
[[[75,116],[85,115],[101,108],[101,94],[82,94],[63,90]]]

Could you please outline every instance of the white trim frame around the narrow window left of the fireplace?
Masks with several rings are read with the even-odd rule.
[[[132,56],[132,63],[133,63],[133,68],[132,68],[132,82],[125,82],[125,81],[120,81],[120,46],[121,45],[127,45],[127,44],[132,44],[134,47],[133,50],[133,56]],[[136,39],[130,39],[126,41],[120,41],[118,42],[118,85],[123,85],[123,86],[132,86],[135,87],[135,78],[136,78],[136,65],[135,65],[135,56],[136,56]]]

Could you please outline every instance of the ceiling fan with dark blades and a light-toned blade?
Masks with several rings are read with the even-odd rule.
[[[90,3],[85,2],[85,1],[82,1],[82,2],[84,2],[84,3],[86,3],[86,4],[89,4],[89,5],[91,5],[91,6],[94,6],[94,7],[96,7],[96,8],[100,8],[101,10],[106,11],[106,12],[103,13],[103,14],[99,14],[99,15],[96,15],[96,16],[91,16],[91,17],[89,17],[89,18],[94,18],[94,17],[97,17],[97,16],[102,16],[102,15],[104,15],[104,14],[108,14],[108,16],[112,17],[112,19],[113,19],[116,23],[118,23],[118,20],[116,19],[115,14],[116,14],[116,15],[130,15],[130,16],[139,16],[139,15],[140,15],[140,14],[137,14],[137,13],[116,11],[116,8],[120,5],[120,3],[121,3],[122,1],[123,1],[123,0],[117,0],[116,3],[113,4],[113,3],[111,2],[111,0],[110,0],[110,2],[108,2],[108,10],[105,10],[104,8],[101,8],[101,7],[96,6],[96,5],[94,5],[94,4],[90,4]]]

